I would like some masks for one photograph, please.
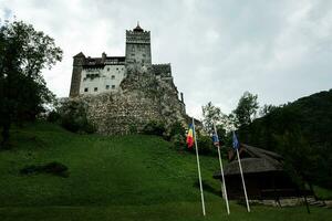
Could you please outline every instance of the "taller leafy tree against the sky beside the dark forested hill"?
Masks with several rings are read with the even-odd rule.
[[[257,95],[249,92],[243,93],[237,108],[234,110],[236,116],[235,125],[237,127],[249,125],[252,122],[257,114],[257,109],[259,108],[257,98]]]

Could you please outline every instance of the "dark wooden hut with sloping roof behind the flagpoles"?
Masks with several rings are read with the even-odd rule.
[[[283,170],[280,155],[245,144],[240,145],[239,154],[250,200],[279,200],[279,198],[300,196],[297,185]],[[240,169],[235,151],[229,152],[229,160],[230,162],[225,167],[228,198],[243,199]],[[214,177],[221,180],[220,172]]]

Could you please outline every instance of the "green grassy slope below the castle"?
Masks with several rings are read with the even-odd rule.
[[[11,131],[11,150],[0,151],[0,220],[203,220],[195,155],[155,136],[76,135],[38,123]],[[329,220],[332,210],[230,202],[226,214],[212,179],[217,157],[201,156],[205,220]],[[70,176],[21,175],[29,165],[59,161]]]

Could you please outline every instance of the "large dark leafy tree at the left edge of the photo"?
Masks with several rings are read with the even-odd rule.
[[[12,123],[33,120],[54,95],[41,75],[62,59],[54,40],[22,21],[0,23],[0,127],[1,147]]]

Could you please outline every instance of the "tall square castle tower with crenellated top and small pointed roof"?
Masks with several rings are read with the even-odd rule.
[[[139,23],[135,29],[126,31],[126,64],[152,65],[151,34]]]

